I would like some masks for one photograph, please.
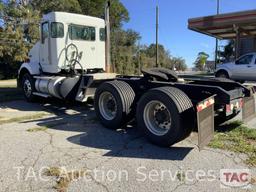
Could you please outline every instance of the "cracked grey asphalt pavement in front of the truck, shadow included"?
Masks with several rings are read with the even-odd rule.
[[[197,133],[160,148],[135,124],[106,129],[92,105],[5,102],[1,121],[0,191],[241,191],[222,188],[220,171],[256,171],[228,149],[199,151]],[[47,174],[53,168],[61,177]],[[70,173],[76,176],[61,180]]]

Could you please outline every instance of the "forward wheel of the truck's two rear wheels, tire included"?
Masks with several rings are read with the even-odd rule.
[[[101,84],[95,93],[95,112],[107,128],[118,129],[132,119],[135,92],[124,81]]]

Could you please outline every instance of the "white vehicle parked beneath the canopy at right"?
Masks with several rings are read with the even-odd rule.
[[[215,76],[236,81],[256,81],[256,53],[248,53],[234,62],[218,65]]]

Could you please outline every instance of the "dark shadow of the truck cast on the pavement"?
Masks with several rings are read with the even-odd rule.
[[[20,111],[50,111],[54,116],[21,123],[36,122],[38,126],[52,130],[79,132],[78,135],[64,135],[64,137],[67,137],[68,142],[79,146],[106,150],[104,156],[183,160],[193,149],[193,147],[182,146],[161,148],[152,145],[138,133],[134,125],[128,125],[126,129],[117,131],[106,129],[98,123],[92,104],[63,103],[57,99],[41,99],[39,104],[26,104],[24,101],[20,105],[15,102],[6,104],[6,107]]]

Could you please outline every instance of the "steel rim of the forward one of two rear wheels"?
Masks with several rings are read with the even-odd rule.
[[[100,95],[99,111],[102,117],[108,121],[113,120],[116,117],[117,102],[110,92],[105,91]]]

